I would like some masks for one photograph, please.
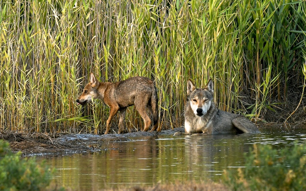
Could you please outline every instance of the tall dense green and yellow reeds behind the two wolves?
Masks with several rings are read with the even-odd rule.
[[[305,10],[289,0],[3,0],[0,129],[103,133],[109,108],[75,102],[90,72],[153,79],[165,129],[183,124],[189,78],[212,78],[220,109],[264,119],[303,88]],[[132,107],[126,120],[143,125]]]

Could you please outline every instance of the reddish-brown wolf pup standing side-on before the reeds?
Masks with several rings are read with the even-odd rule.
[[[90,73],[90,82],[84,87],[82,95],[76,100],[78,104],[84,105],[92,99],[104,101],[110,107],[110,116],[106,121],[107,134],[110,130],[111,120],[119,111],[119,131],[123,133],[125,129],[126,108],[135,105],[137,111],[144,119],[144,131],[148,131],[151,126],[151,119],[147,113],[150,110],[153,115],[153,128],[158,127],[158,98],[157,89],[149,78],[132,77],[116,83],[99,82],[93,73]]]

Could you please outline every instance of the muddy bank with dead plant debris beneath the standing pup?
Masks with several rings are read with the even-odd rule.
[[[34,133],[25,135],[22,133],[1,133],[0,138],[10,143],[11,150],[21,151],[22,156],[34,155],[69,155],[75,153],[98,152],[105,149],[105,143],[116,141],[129,141],[131,137],[136,136],[158,136],[162,134],[174,134],[175,132],[184,132],[184,128],[174,128],[162,130],[161,132],[133,132],[125,134],[71,134],[60,136],[55,139],[42,134]],[[104,145],[104,147],[102,146]]]

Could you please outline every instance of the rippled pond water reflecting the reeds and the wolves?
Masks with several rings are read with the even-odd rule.
[[[212,179],[218,181],[224,169],[244,164],[244,153],[252,144],[290,147],[306,143],[306,130],[294,133],[240,135],[162,135],[133,138],[129,142],[105,143],[103,151],[61,157],[37,157],[57,169],[53,183],[73,190],[153,185]]]

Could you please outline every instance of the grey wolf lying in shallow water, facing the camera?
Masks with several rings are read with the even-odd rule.
[[[244,116],[219,110],[214,98],[214,83],[209,80],[205,88],[196,88],[187,82],[185,104],[185,133],[259,133],[258,128]],[[174,136],[183,133],[177,132]]]

